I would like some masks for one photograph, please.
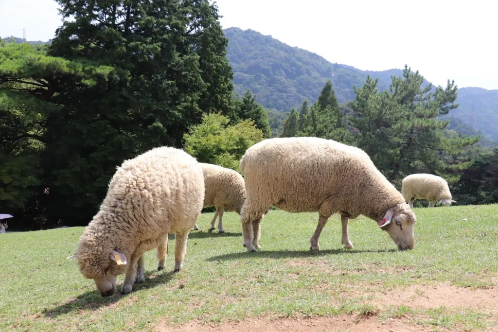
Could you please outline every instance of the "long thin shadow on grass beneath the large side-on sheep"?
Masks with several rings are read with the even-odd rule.
[[[311,250],[260,250],[255,252],[233,252],[229,254],[223,254],[218,256],[213,256],[207,258],[207,262],[213,261],[223,261],[223,260],[236,260],[236,259],[250,259],[250,258],[273,258],[273,259],[285,259],[285,258],[306,258],[306,257],[320,257],[326,255],[337,255],[337,254],[359,254],[359,253],[385,253],[385,252],[396,252],[396,249],[329,249],[320,251]]]

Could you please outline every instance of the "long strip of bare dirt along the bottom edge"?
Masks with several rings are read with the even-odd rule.
[[[427,327],[410,324],[407,321],[388,319],[379,321],[376,317],[366,317],[360,320],[353,315],[314,318],[255,318],[241,322],[229,322],[221,325],[204,324],[192,321],[180,327],[172,327],[164,322],[156,327],[158,332],[318,332],[318,331],[386,331],[386,332],[425,332]]]

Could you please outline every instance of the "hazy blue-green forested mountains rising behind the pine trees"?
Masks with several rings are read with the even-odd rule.
[[[355,98],[353,86],[362,87],[367,75],[378,79],[380,91],[388,89],[391,75],[402,75],[401,69],[362,71],[333,64],[250,29],[228,28],[224,32],[229,39],[228,59],[234,70],[235,91],[242,94],[249,89],[257,102],[269,110],[290,112],[304,99],[316,101],[327,80],[332,81],[338,102],[344,103]],[[498,90],[462,88],[458,90],[457,103],[460,107],[448,116],[460,118],[477,129],[474,132],[498,141]],[[271,122],[274,112],[270,111],[269,117]]]

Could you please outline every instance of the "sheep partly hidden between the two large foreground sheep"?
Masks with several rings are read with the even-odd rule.
[[[211,230],[215,229],[216,219],[219,216],[218,230],[223,233],[223,213],[225,209],[229,212],[235,211],[241,214],[242,206],[246,201],[246,190],[244,188],[244,178],[234,170],[212,165],[199,163],[204,174],[204,208],[216,207],[216,213],[211,221]],[[194,229],[199,229],[195,224]]]

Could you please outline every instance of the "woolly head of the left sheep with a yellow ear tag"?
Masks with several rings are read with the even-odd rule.
[[[82,239],[75,258],[81,273],[93,279],[100,295],[106,297],[116,292],[116,277],[126,272],[126,255],[110,244],[97,244]]]

